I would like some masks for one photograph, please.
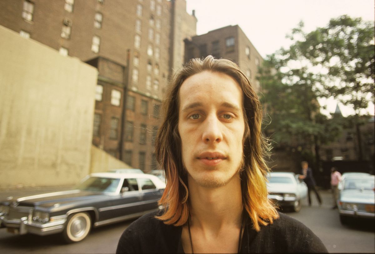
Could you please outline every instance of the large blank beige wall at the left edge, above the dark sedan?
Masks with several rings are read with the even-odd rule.
[[[97,70],[0,26],[0,187],[90,171]]]

